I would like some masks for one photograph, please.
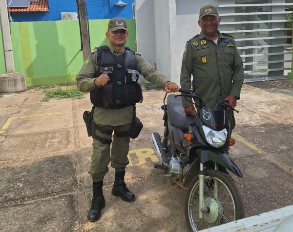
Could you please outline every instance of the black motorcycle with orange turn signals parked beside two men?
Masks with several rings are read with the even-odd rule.
[[[158,133],[151,135],[160,162],[155,168],[165,170],[169,183],[187,190],[184,212],[189,231],[241,219],[243,202],[228,173],[243,177],[227,151],[235,143],[230,138],[227,109],[236,110],[226,100],[209,109],[194,91],[179,92],[168,97],[166,93],[163,100],[163,141]],[[194,117],[185,114],[182,97],[197,102],[192,102],[197,108]]]

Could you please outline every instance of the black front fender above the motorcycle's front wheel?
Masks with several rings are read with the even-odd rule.
[[[202,164],[206,163],[207,161],[213,161],[228,169],[231,173],[237,175],[238,177],[243,177],[240,169],[233,162],[233,160],[231,160],[230,156],[227,155],[225,152],[214,152],[211,150],[204,149],[199,149],[198,151],[200,162]]]

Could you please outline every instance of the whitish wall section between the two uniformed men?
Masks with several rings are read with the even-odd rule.
[[[169,80],[177,75],[171,66],[171,53],[176,46],[175,0],[135,0],[137,50]],[[174,73],[174,74],[173,74]]]

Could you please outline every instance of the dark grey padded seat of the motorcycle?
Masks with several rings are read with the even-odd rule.
[[[188,132],[188,127],[193,122],[192,116],[188,116],[184,112],[182,105],[182,97],[175,97],[176,95],[169,95],[167,99],[167,114],[168,119],[173,126],[178,127],[183,132]]]

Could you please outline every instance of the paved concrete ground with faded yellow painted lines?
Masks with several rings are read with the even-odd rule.
[[[163,134],[164,92],[144,92],[137,114],[144,129],[130,142],[126,183],[137,200],[111,195],[114,172],[104,181],[106,207],[86,219],[91,202],[87,174],[91,138],[83,99],[41,102],[40,88],[0,97],[0,231],[184,232],[185,190],[167,185],[150,140]],[[293,80],[244,84],[235,114],[230,154],[244,177],[234,178],[246,216],[293,204]]]

